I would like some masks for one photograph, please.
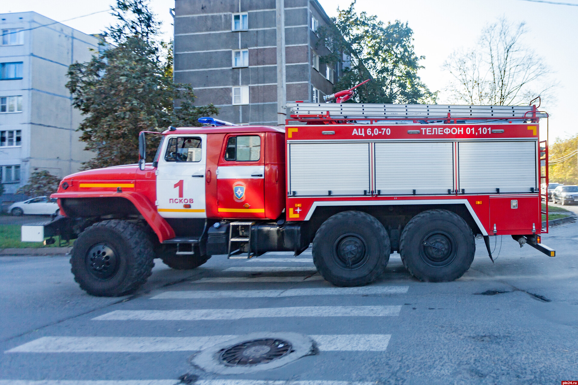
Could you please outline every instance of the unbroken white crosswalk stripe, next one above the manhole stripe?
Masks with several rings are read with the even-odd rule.
[[[398,316],[401,306],[298,306],[261,309],[115,310],[98,321],[201,321],[262,317],[383,317]]]

